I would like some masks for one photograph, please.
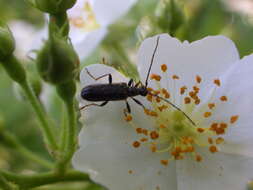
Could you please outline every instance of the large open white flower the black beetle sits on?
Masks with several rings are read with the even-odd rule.
[[[143,83],[156,40],[146,39],[138,53]],[[88,70],[127,81],[104,65]],[[240,60],[224,36],[181,43],[161,34],[148,86],[195,124],[151,95],[136,97],[145,113],[128,99],[132,118],[124,118],[124,101],[88,107],[74,168],[110,190],[244,190],[253,176],[252,73],[253,55]],[[83,86],[101,81],[81,73]]]

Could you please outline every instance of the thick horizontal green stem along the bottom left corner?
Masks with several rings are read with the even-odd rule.
[[[2,175],[6,178],[6,180],[14,182],[21,189],[34,188],[58,182],[91,182],[87,174],[78,171],[68,171],[64,175],[59,175],[54,172],[34,175],[19,175],[11,172],[2,171]]]

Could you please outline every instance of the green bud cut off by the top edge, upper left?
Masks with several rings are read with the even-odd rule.
[[[30,2],[43,12],[56,14],[73,7],[76,0],[30,0]]]

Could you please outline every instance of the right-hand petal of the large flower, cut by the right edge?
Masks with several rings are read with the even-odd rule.
[[[219,102],[212,120],[229,122],[230,117],[238,115],[239,120],[228,129],[224,152],[253,157],[253,55],[244,57],[231,67],[221,78],[221,87],[215,91]],[[226,95],[227,102],[219,98]]]

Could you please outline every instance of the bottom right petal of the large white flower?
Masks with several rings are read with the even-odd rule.
[[[202,162],[177,162],[179,190],[245,190],[253,176],[253,159],[244,156],[202,151]]]

